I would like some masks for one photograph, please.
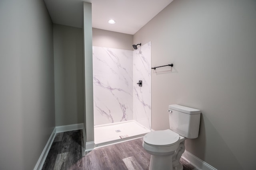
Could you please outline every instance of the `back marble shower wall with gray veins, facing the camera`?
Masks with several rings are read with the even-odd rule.
[[[93,47],[94,125],[133,119],[132,51]]]

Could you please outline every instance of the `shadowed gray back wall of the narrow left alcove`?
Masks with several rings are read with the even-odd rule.
[[[84,122],[82,28],[54,24],[56,126]]]

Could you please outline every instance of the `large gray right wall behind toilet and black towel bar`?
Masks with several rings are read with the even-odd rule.
[[[152,127],[169,104],[202,110],[186,150],[218,170],[255,169],[256,1],[174,0],[134,34],[152,43]]]

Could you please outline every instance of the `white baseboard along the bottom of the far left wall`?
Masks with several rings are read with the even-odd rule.
[[[43,168],[44,161],[46,160],[46,157],[47,157],[49,150],[52,146],[55,135],[56,135],[56,127],[53,129],[52,134],[50,135],[50,138],[48,139],[48,141],[44,147],[44,150],[42,151],[42,154],[40,155],[40,157],[36,163],[36,166],[34,167],[34,170],[41,170]]]

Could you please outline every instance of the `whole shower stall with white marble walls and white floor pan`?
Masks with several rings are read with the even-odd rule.
[[[134,51],[94,46],[92,52],[95,146],[150,132],[151,42]]]

